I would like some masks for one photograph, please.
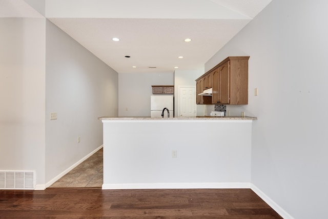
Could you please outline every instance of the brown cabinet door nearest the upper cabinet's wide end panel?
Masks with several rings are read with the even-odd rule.
[[[219,96],[220,104],[230,103],[230,62],[220,67]]]

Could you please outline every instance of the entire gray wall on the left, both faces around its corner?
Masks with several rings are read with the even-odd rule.
[[[35,170],[43,189],[103,144],[117,72],[46,18],[0,18],[0,32],[0,170]]]

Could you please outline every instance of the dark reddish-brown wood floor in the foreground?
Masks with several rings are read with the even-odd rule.
[[[0,218],[282,218],[251,189],[0,190]]]

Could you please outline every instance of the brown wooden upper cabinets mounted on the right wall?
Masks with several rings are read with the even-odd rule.
[[[229,56],[201,76],[207,78],[206,85],[213,89],[212,104],[248,104],[249,58],[250,56]],[[211,79],[207,77],[209,74]]]

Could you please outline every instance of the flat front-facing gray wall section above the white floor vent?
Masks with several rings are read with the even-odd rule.
[[[0,170],[45,182],[46,18],[0,18]]]

